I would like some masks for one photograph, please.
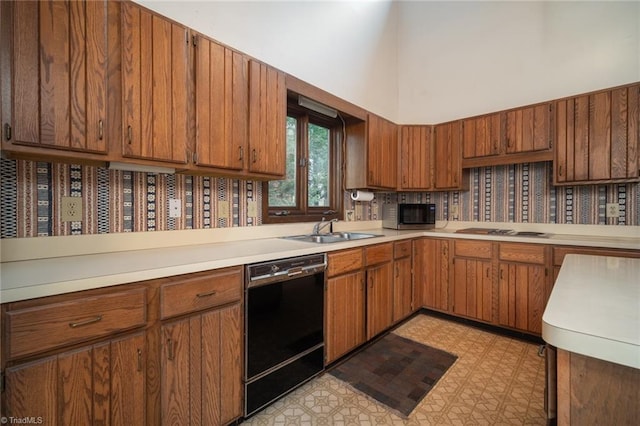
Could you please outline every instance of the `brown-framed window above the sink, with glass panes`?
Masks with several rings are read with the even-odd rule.
[[[265,183],[266,223],[338,217],[341,122],[297,106],[287,114],[286,178]]]

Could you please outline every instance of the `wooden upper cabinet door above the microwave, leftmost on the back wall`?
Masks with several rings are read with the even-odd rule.
[[[431,189],[431,134],[431,126],[400,126],[399,189]]]

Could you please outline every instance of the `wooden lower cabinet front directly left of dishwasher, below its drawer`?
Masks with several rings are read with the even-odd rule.
[[[242,415],[240,304],[162,326],[161,420],[224,425]]]

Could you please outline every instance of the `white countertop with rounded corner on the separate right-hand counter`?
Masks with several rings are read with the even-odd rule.
[[[640,369],[640,259],[567,255],[542,316],[542,337]]]

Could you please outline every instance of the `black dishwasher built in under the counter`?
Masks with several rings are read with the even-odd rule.
[[[245,416],[324,368],[324,271],[316,254],[247,266]]]

